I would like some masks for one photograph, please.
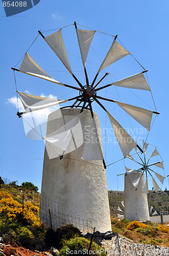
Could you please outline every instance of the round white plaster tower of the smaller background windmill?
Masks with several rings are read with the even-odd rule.
[[[131,221],[150,220],[147,194],[140,192],[144,186],[144,179],[140,181],[137,190],[135,190],[135,187],[131,183],[141,175],[142,173],[132,173],[124,176],[124,218]]]

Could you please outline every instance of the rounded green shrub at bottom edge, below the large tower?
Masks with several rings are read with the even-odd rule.
[[[67,256],[68,252],[72,253],[70,255],[106,255],[103,251],[100,251],[101,249],[104,250],[104,248],[100,247],[99,245],[92,243],[91,247],[91,253],[87,251],[89,249],[90,241],[85,238],[73,238],[70,239],[65,246],[60,250],[60,256]],[[79,252],[78,252],[79,251]],[[74,252],[74,253],[73,253]],[[89,252],[89,253],[88,253]]]

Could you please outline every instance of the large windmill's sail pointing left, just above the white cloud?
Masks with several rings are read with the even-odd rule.
[[[27,93],[18,92],[26,113],[48,108],[49,106],[57,105],[67,100],[51,99],[39,97]]]

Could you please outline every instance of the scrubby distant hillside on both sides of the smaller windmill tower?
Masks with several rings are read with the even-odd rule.
[[[120,206],[121,209],[123,209],[123,206],[121,204],[122,201],[124,201],[124,191],[108,191],[108,199],[109,199],[109,206],[110,206],[110,215],[116,217],[117,213],[120,213],[117,211],[118,206]],[[155,193],[155,191],[150,190],[148,194],[148,204],[149,208],[150,205],[152,205],[154,208],[152,210],[152,213],[157,210],[157,214],[160,215],[162,212],[163,215],[169,214],[169,190],[165,191],[158,191]],[[152,216],[152,213],[150,216]]]

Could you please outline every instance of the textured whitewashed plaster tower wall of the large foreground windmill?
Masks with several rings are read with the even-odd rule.
[[[79,109],[63,109],[63,116],[77,116]],[[47,134],[64,125],[64,119],[55,119],[57,112],[49,115]],[[99,118],[94,114],[101,142]],[[83,110],[81,118],[83,136],[91,124],[91,112]],[[111,230],[106,174],[101,160],[80,160],[84,143],[75,151],[49,159],[44,153],[42,196],[62,205],[66,215],[92,221],[100,232]],[[69,159],[66,159],[69,158]],[[41,204],[41,211],[43,212]],[[50,206],[52,209],[52,205]]]

